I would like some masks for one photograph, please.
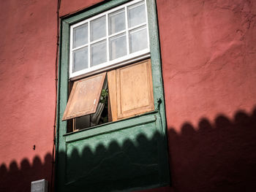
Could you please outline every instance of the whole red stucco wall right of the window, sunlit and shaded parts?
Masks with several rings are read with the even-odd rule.
[[[157,5],[172,189],[255,191],[256,1]]]

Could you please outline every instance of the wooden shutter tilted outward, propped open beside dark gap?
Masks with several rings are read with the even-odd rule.
[[[99,103],[105,73],[74,82],[62,120],[94,113]]]

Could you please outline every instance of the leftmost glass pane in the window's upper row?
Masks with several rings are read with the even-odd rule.
[[[88,42],[88,24],[74,28],[73,48],[85,45]]]

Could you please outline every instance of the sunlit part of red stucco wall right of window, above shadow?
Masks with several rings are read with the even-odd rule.
[[[255,1],[157,2],[168,126],[252,112]]]

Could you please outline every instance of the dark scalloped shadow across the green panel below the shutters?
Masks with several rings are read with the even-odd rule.
[[[95,149],[83,146],[83,141],[79,147],[69,145],[70,155],[59,153],[59,159],[66,161],[66,185],[58,191],[135,191],[169,183],[167,158],[163,156],[167,151],[157,132],[150,139],[143,134],[125,139],[122,145],[111,139],[108,145],[99,144]]]

